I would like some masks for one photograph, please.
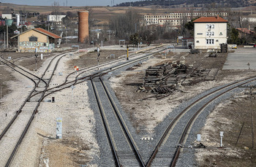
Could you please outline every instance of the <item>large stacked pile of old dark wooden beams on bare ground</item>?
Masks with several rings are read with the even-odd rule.
[[[197,80],[202,80],[203,71],[205,70],[187,66],[184,61],[149,66],[143,77],[143,85],[136,91],[170,95],[174,90],[178,90],[179,85],[192,85]]]

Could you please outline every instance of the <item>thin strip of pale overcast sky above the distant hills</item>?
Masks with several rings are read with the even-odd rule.
[[[54,1],[59,2],[60,6],[111,6],[112,4],[120,4],[122,2],[139,1],[139,0],[0,0],[2,3],[12,3],[12,4],[27,4],[36,6],[52,6]]]

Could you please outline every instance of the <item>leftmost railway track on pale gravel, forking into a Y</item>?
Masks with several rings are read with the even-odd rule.
[[[29,131],[29,127],[31,126],[32,121],[34,120],[34,116],[37,113],[37,109],[39,107],[40,102],[45,96],[45,92],[50,84],[54,71],[56,70],[56,67],[58,66],[59,61],[61,60],[62,57],[64,57],[64,55],[65,54],[56,55],[56,57],[54,57],[50,61],[50,63],[48,64],[48,67],[45,69],[44,74],[42,74],[42,77],[39,78],[37,82],[34,81],[35,86],[31,91],[31,93],[29,93],[29,96],[27,96],[26,100],[23,102],[23,104],[21,104],[20,109],[18,109],[14,117],[12,117],[12,120],[10,121],[10,123],[8,123],[8,125],[1,132],[0,152],[5,152],[5,154],[1,154],[0,162],[2,163],[5,162],[6,167],[11,165],[12,160],[15,157],[16,152],[18,151],[18,147],[20,146],[21,142],[26,136],[26,133]],[[7,62],[5,63],[7,64]],[[15,66],[15,65],[12,63],[12,66]],[[11,66],[10,68],[14,69]],[[21,69],[21,68],[18,68],[18,67],[15,68],[15,71],[18,71],[16,69]],[[47,74],[47,71],[49,69],[53,69],[53,72],[51,74]],[[20,71],[19,73],[23,74],[24,76],[28,77],[31,80],[34,80],[30,76],[28,76],[28,74],[30,74],[33,77],[35,77],[33,74],[23,69],[21,70],[26,74],[23,74]],[[42,88],[39,88],[39,83],[42,82],[44,78],[48,79],[48,82],[44,82],[46,85]],[[39,89],[40,90],[44,89],[44,90],[42,91],[41,94],[35,97],[37,98],[37,100],[35,100],[36,102],[29,102],[29,99],[31,98],[31,96],[33,96],[33,93],[37,93]]]

